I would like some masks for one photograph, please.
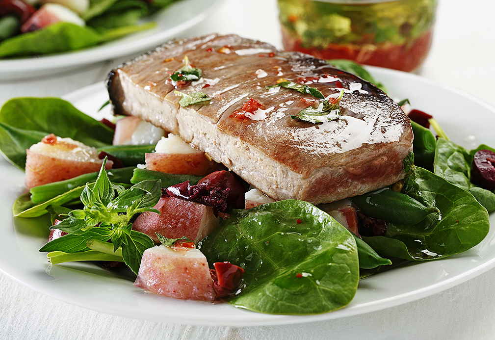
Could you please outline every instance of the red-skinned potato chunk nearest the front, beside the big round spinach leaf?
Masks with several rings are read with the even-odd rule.
[[[178,299],[215,299],[208,262],[195,248],[159,245],[146,249],[134,285]]]

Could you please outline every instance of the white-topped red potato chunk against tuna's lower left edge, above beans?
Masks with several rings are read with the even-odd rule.
[[[146,153],[145,159],[148,170],[169,174],[205,176],[224,168],[180,137],[171,134],[157,143],[154,153]]]

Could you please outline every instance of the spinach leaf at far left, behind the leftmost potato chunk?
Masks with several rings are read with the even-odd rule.
[[[113,130],[63,99],[13,98],[1,107],[0,151],[18,168],[24,169],[26,149],[50,133],[95,147],[113,140]]]

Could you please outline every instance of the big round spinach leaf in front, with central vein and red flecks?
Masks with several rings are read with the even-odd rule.
[[[356,292],[354,237],[308,202],[284,200],[234,210],[198,248],[210,263],[230,261],[245,270],[245,284],[227,300],[236,307],[324,313],[346,306]]]

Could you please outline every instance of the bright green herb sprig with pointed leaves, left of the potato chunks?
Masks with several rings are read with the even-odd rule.
[[[153,206],[161,196],[160,180],[142,181],[129,189],[110,182],[104,166],[93,185],[81,194],[83,209],[66,214],[53,228],[68,235],[45,244],[52,264],[66,261],[120,260],[138,273],[143,252],[154,245],[147,235],[132,230],[132,217]],[[117,196],[116,196],[117,193]]]

